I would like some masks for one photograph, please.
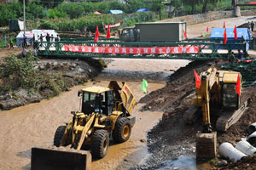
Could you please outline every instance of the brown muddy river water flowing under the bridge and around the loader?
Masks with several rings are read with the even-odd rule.
[[[1,111],[0,169],[30,169],[31,148],[52,145],[55,129],[70,121],[70,111],[79,110],[77,92],[80,88],[108,86],[110,80],[125,81],[138,101],[145,95],[140,90],[143,78],[148,80],[150,93],[163,88],[166,77],[188,63],[188,60],[181,59],[114,59],[94,82],[71,88],[69,92],[37,104]],[[137,122],[132,128],[131,138],[123,144],[111,144],[107,156],[92,162],[93,170],[129,169],[147,159],[147,132],[160,121],[162,113],[140,112],[142,106],[136,105],[133,112]]]

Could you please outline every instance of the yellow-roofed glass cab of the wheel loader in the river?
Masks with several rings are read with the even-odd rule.
[[[109,88],[91,87],[82,90],[82,112],[111,115],[113,111],[113,90]]]

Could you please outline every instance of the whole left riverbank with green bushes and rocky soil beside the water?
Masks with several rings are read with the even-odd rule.
[[[96,59],[34,59],[9,56],[0,64],[0,110],[39,102],[87,82],[102,71]]]

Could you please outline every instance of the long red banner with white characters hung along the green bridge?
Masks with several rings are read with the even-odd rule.
[[[158,47],[158,48],[122,48],[64,45],[65,51],[98,54],[198,54],[199,46]]]

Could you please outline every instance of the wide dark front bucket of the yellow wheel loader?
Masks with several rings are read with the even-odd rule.
[[[90,151],[32,148],[32,170],[90,170]]]

